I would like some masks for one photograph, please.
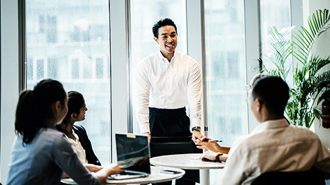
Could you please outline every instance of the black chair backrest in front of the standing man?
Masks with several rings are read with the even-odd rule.
[[[170,142],[170,143],[150,143],[151,158],[183,153],[203,153],[202,149],[197,149],[195,143],[191,141]]]

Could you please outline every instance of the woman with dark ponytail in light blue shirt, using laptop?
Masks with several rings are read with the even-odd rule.
[[[19,95],[8,185],[60,184],[63,171],[78,184],[104,184],[109,175],[124,171],[111,164],[92,175],[55,128],[66,114],[67,93],[56,80],[44,79]]]

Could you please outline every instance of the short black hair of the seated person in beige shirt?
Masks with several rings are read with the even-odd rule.
[[[270,114],[281,116],[289,100],[289,86],[281,77],[261,77],[252,87],[252,97],[259,99]]]

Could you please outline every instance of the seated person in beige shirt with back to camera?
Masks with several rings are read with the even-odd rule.
[[[330,151],[304,127],[287,124],[284,116],[289,87],[281,77],[256,80],[249,96],[259,124],[248,136],[235,140],[228,153],[220,184],[251,184],[270,171],[307,171],[314,167],[330,178]],[[219,160],[210,151],[202,158]]]

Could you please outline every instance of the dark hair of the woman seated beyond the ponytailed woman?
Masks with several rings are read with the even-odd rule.
[[[80,108],[85,105],[85,99],[81,93],[76,91],[69,91],[67,93],[67,115],[62,123],[67,125],[73,113],[79,114]]]

